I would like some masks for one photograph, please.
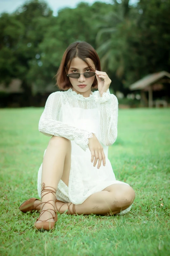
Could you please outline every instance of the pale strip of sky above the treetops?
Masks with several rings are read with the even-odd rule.
[[[120,1],[120,0],[119,0]],[[118,1],[118,2],[119,2]],[[26,0],[0,0],[0,13],[14,12],[18,7],[23,5]],[[104,2],[111,3],[111,0],[45,0],[48,3],[49,7],[53,10],[53,15],[57,15],[58,10],[64,7],[76,8],[77,4],[80,2],[86,2],[92,5],[94,2]],[[137,0],[131,0],[132,4],[137,2]]]

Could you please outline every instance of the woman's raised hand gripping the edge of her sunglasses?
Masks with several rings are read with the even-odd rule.
[[[111,80],[107,76],[106,72],[96,70],[95,73],[98,82],[98,91],[100,93],[100,96],[102,96],[102,94],[106,93],[107,89],[109,88]],[[104,79],[104,81],[100,79],[101,77]]]

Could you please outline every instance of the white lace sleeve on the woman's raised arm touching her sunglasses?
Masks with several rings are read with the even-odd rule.
[[[108,89],[97,101],[100,104],[100,140],[110,146],[117,138],[118,99]]]

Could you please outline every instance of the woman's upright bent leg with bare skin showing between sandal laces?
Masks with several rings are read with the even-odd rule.
[[[63,137],[52,136],[43,159],[41,183],[45,183],[46,189],[51,189],[52,187],[53,191],[57,190],[60,179],[62,179],[68,186],[70,166],[71,141]],[[43,203],[49,200],[51,200],[50,203],[55,206],[54,193],[44,195],[41,202]],[[39,203],[38,200],[35,202]],[[50,203],[41,204],[41,208],[43,207],[43,210],[54,209]],[[53,210],[49,211],[54,215]],[[46,211],[40,216],[40,220],[43,221],[49,219],[51,216],[52,215]],[[52,219],[50,221],[52,221]],[[36,223],[38,222],[40,221],[37,221]]]

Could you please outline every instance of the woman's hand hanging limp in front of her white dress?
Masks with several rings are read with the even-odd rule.
[[[93,160],[94,160],[93,166],[95,167],[97,160],[99,160],[98,166],[97,166],[97,168],[99,169],[101,166],[102,160],[103,160],[103,165],[104,166],[106,165],[105,153],[104,153],[102,145],[100,144],[100,142],[98,141],[98,139],[96,138],[94,133],[92,133],[92,135],[93,135],[93,137],[89,138],[89,143],[88,143],[90,152],[92,154],[91,162],[93,162]],[[95,157],[95,159],[94,159],[94,157]]]

